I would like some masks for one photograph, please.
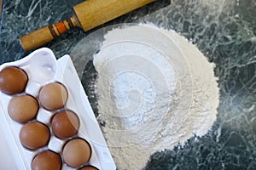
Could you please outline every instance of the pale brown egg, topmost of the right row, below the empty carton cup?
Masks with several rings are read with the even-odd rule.
[[[39,101],[48,110],[61,109],[67,103],[67,88],[59,82],[51,82],[41,88]]]

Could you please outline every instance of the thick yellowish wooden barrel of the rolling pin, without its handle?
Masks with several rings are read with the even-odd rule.
[[[73,7],[84,31],[143,7],[155,0],[86,0]]]

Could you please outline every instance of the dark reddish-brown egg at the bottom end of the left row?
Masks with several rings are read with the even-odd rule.
[[[60,170],[61,166],[61,156],[51,150],[38,153],[32,160],[32,170]]]

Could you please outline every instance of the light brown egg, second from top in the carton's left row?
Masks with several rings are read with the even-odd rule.
[[[28,122],[38,114],[38,100],[31,95],[16,96],[9,101],[8,113],[15,122]]]

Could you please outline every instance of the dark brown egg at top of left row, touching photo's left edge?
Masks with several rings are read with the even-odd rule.
[[[0,90],[5,94],[19,94],[26,88],[28,77],[18,67],[6,67],[0,71]]]

